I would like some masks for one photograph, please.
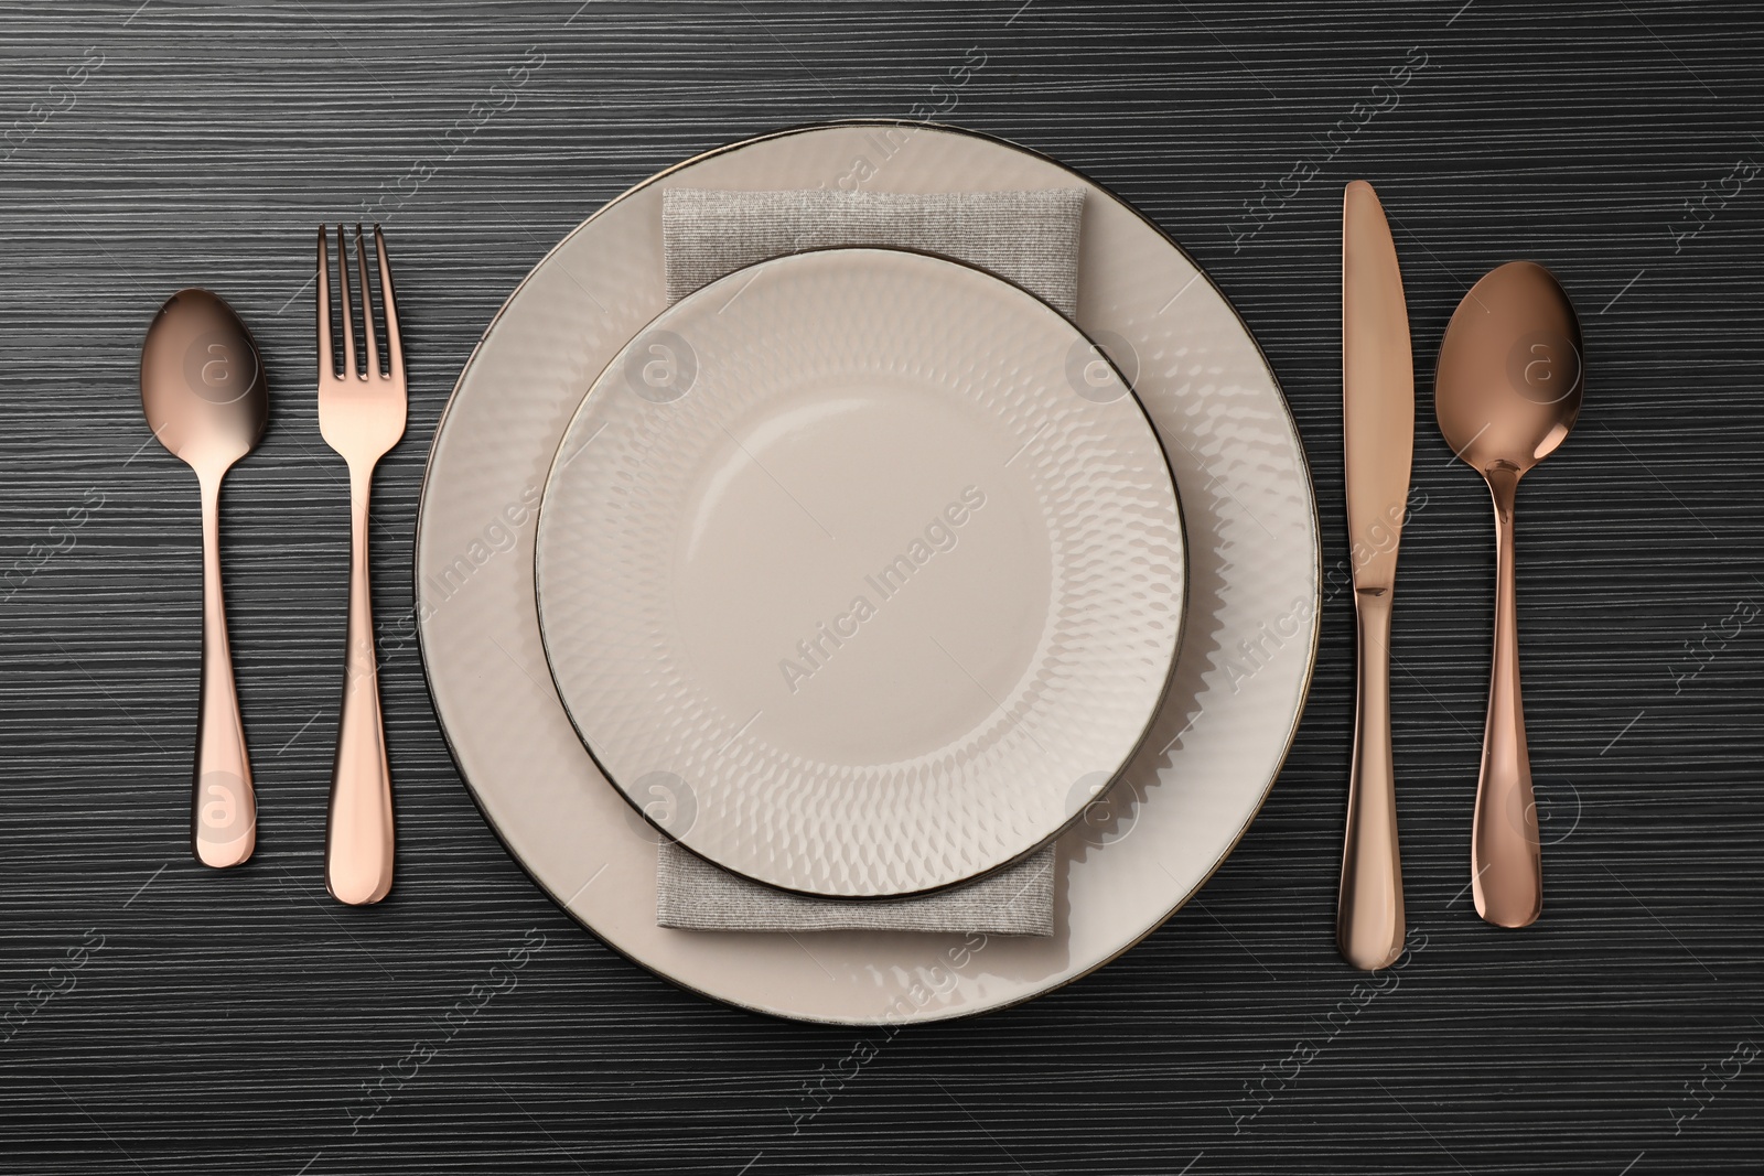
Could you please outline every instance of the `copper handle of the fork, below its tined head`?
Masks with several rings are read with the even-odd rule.
[[[344,659],[342,719],[332,770],[330,825],[325,834],[325,889],[339,903],[367,906],[392,890],[392,770],[379,714],[374,608],[367,577],[367,501],[372,467],[349,467],[349,647]]]

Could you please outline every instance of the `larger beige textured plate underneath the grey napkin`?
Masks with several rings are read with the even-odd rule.
[[[545,668],[533,506],[582,395],[667,309],[662,189],[1085,187],[1078,326],[1164,443],[1189,603],[1170,693],[1057,846],[1048,938],[670,931],[656,834],[577,739]],[[510,541],[513,532],[513,541]],[[1028,1000],[1182,906],[1249,827],[1291,746],[1318,633],[1316,508],[1291,414],[1224,296],[1157,226],[1041,155],[917,123],[790,130],[681,164],[602,208],[510,296],[436,432],[416,536],[436,711],[485,818],[564,910],[633,961],[759,1012],[873,1024]]]

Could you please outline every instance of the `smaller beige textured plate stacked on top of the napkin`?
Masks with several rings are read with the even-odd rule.
[[[538,524],[552,679],[607,778],[804,894],[947,887],[1069,825],[1182,619],[1164,451],[1085,358],[1016,286],[886,249],[737,270],[646,326]]]

